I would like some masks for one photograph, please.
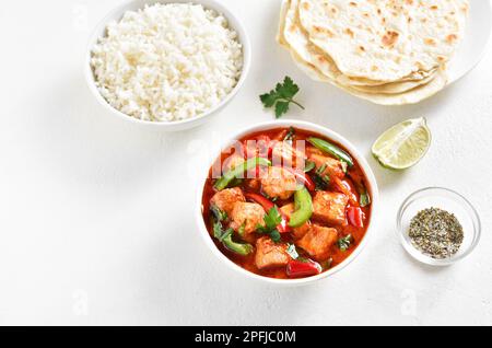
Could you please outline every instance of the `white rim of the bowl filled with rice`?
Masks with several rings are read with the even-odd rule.
[[[130,115],[127,115],[117,108],[109,105],[109,103],[104,98],[103,95],[101,95],[101,92],[97,90],[95,85],[95,78],[93,70],[91,68],[91,56],[92,56],[92,49],[94,45],[96,44],[97,39],[101,37],[99,33],[103,31],[108,22],[114,16],[120,16],[126,11],[127,8],[131,7],[133,3],[137,2],[144,2],[147,4],[155,4],[155,3],[195,3],[195,4],[202,4],[206,9],[214,9],[219,11],[224,18],[229,21],[229,25],[236,31],[237,35],[239,36],[239,43],[243,46],[243,70],[241,72],[241,78],[237,81],[237,84],[234,86],[234,89],[229,93],[229,95],[221,101],[218,105],[212,107],[211,109],[207,111],[206,113],[189,118],[189,119],[183,119],[183,120],[176,120],[176,121],[151,121],[151,120],[143,120],[136,117],[132,117]],[[234,25],[234,23],[235,25]],[[140,125],[151,125],[153,127],[160,127],[160,128],[177,128],[177,129],[184,129],[187,126],[192,127],[194,124],[200,124],[200,121],[203,121],[204,118],[212,116],[220,109],[222,109],[225,105],[227,105],[239,92],[239,90],[243,88],[249,71],[251,67],[251,43],[249,39],[249,35],[246,31],[246,27],[244,26],[243,21],[234,14],[233,11],[231,11],[225,4],[218,0],[127,0],[126,2],[119,4],[118,7],[114,8],[112,11],[109,11],[103,20],[101,20],[97,25],[92,31],[92,34],[89,38],[87,48],[85,50],[85,59],[84,59],[84,76],[85,81],[89,85],[89,89],[94,94],[95,98],[99,102],[99,104],[103,105],[104,108],[109,111],[112,114],[117,115],[118,117],[140,124]]]

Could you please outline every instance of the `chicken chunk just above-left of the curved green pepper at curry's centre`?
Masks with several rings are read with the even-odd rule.
[[[280,166],[268,167],[261,177],[261,189],[271,198],[289,199],[296,187],[295,175]]]

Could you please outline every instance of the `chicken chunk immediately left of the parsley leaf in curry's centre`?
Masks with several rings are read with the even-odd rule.
[[[231,228],[239,231],[244,225],[244,234],[253,233],[258,225],[265,225],[265,210],[258,204],[238,201],[231,213]]]

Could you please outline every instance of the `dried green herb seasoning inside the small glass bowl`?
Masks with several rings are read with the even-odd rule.
[[[443,259],[459,251],[464,231],[453,213],[440,208],[429,208],[411,220],[409,236],[415,248],[432,258]]]

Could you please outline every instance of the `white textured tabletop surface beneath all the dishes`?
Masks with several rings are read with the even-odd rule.
[[[492,48],[432,100],[379,107],[294,68],[273,39],[279,1],[224,0],[250,34],[251,74],[212,123],[166,135],[107,116],[86,89],[90,31],[118,2],[9,1],[0,10],[0,324],[492,324]],[[285,74],[307,107],[289,117],[364,151],[384,212],[342,272],[276,289],[236,276],[202,243],[192,163],[203,141],[271,119],[258,95]],[[434,136],[427,156],[406,173],[379,167],[373,140],[418,116]],[[466,195],[483,223],[476,252],[443,269],[413,262],[395,235],[403,198],[432,185]]]

